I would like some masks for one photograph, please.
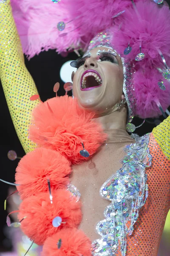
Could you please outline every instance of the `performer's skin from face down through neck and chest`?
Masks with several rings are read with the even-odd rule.
[[[96,54],[98,50],[108,48],[98,47],[91,50],[91,57],[87,58],[84,65],[78,68],[73,79],[73,93],[77,97],[79,105],[96,112],[99,121],[108,139],[93,157],[80,165],[72,166],[70,177],[71,184],[77,187],[81,193],[82,221],[79,229],[94,241],[99,239],[96,233],[96,224],[104,219],[103,212],[110,202],[102,199],[99,190],[102,184],[111,175],[122,167],[120,160],[124,157],[123,148],[133,143],[133,139],[126,133],[127,108],[112,112],[111,108],[124,99],[123,95],[123,66],[119,56],[115,63],[99,61]],[[96,70],[101,78],[102,85],[92,90],[80,90],[80,81],[85,70]],[[122,131],[123,130],[123,131]],[[122,136],[123,134],[123,136]]]

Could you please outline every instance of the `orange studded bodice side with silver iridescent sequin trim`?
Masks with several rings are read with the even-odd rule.
[[[157,256],[170,209],[170,161],[152,133],[125,152],[122,168],[100,189],[110,204],[96,225],[100,237],[92,242],[93,256]]]

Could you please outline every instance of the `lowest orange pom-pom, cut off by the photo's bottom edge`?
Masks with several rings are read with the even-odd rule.
[[[91,256],[91,241],[81,230],[67,228],[45,240],[42,256]]]

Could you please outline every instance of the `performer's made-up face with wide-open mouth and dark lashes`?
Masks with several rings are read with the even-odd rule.
[[[77,61],[73,93],[82,108],[102,113],[121,101],[123,65],[108,48],[97,47],[90,54]]]

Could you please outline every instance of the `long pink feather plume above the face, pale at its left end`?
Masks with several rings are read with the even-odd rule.
[[[23,51],[30,57],[48,49],[61,52],[87,46],[97,32],[113,24],[113,16],[132,5],[131,0],[63,0],[57,4],[50,0],[11,0],[11,3]],[[63,32],[58,31],[58,22],[71,20]],[[63,33],[67,35],[60,37]]]

